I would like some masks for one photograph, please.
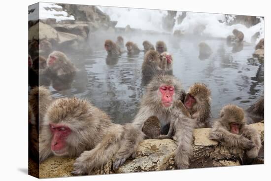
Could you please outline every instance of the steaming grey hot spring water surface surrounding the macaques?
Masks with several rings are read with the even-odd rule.
[[[252,58],[254,45],[228,46],[226,40],[170,38],[169,36],[134,36],[133,41],[143,49],[143,40],[155,44],[164,40],[173,55],[173,74],[185,90],[194,82],[203,82],[212,91],[212,115],[216,117],[226,104],[233,103],[247,108],[264,90],[264,64]],[[125,37],[125,42],[131,37]],[[206,42],[212,54],[199,59],[200,42]],[[102,43],[101,43],[102,44]],[[57,91],[49,88],[55,98],[78,96],[89,99],[95,106],[106,111],[114,122],[131,122],[137,112],[144,92],[141,86],[141,64],[144,53],[109,58],[102,46],[92,53],[67,53],[78,69],[71,88]],[[59,80],[58,80],[59,81]]]

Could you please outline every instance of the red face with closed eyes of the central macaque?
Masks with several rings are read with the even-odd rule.
[[[162,105],[170,107],[173,104],[174,87],[171,85],[162,85],[159,87],[162,94]]]

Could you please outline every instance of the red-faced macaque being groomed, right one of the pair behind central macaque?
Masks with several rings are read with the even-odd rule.
[[[159,59],[161,61],[159,67],[163,70],[163,73],[172,75],[172,56],[168,52],[163,52],[160,54]]]

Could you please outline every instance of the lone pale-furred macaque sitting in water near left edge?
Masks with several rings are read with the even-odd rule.
[[[74,65],[68,60],[67,56],[60,51],[53,51],[49,55],[47,66],[51,73],[58,76],[76,72]]]

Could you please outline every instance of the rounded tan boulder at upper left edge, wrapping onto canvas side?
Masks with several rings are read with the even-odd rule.
[[[50,25],[39,22],[29,29],[29,40],[47,39],[48,41],[58,41],[57,31]],[[39,36],[38,36],[39,35]]]

